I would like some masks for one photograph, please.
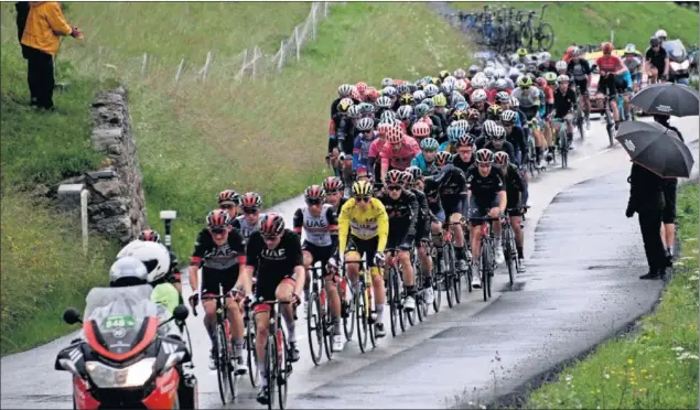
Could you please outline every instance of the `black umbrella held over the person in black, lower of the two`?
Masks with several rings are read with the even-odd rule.
[[[615,137],[632,161],[664,177],[688,177],[693,159],[678,134],[656,122],[627,121]]]

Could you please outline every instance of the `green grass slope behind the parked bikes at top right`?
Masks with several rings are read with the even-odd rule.
[[[482,11],[484,2],[451,2],[457,9]],[[489,2],[517,9],[536,10],[540,14],[543,2]],[[615,31],[615,46],[634,43],[646,50],[656,30],[664,29],[670,39],[681,39],[689,46],[698,44],[698,12],[672,2],[547,2],[545,21],[554,29],[554,45],[550,52],[560,56],[572,43],[600,44]],[[620,20],[620,23],[617,23]],[[535,24],[539,19],[535,20]]]

